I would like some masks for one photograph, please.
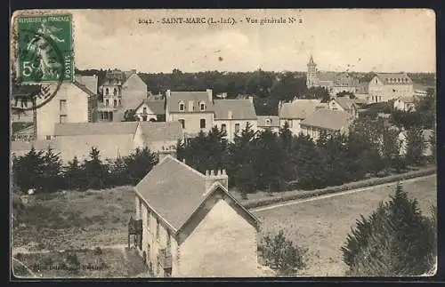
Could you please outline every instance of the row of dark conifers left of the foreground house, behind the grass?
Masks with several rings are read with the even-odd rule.
[[[136,185],[158,163],[158,155],[145,147],[132,155],[102,161],[93,147],[90,157],[79,162],[75,157],[67,166],[52,149],[31,150],[12,157],[12,184],[21,191],[55,192],[62,189],[86,190]]]

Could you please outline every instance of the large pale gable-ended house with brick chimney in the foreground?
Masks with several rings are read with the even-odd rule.
[[[129,230],[155,277],[257,275],[259,221],[228,192],[225,171],[204,175],[166,155],[134,191]]]

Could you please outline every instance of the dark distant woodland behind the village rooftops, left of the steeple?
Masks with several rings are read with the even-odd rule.
[[[83,76],[97,75],[99,84],[105,80],[106,70],[77,70]],[[292,100],[295,97],[306,99],[328,99],[328,91],[323,88],[306,88],[304,72],[269,72],[258,69],[254,72],[207,71],[183,73],[174,69],[172,73],[139,73],[153,94],[172,91],[206,91],[212,89],[214,95],[226,92],[228,99],[238,95],[254,97],[258,115],[278,115],[279,100]]]

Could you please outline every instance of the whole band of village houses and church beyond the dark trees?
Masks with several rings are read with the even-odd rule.
[[[394,108],[415,108],[413,83],[404,73],[376,74],[366,84],[347,74],[329,78],[316,69],[312,57],[308,87],[326,87],[331,100],[279,102],[278,116],[257,116],[251,96],[228,100],[214,97],[209,89],[153,95],[136,70],[110,70],[98,84],[97,76],[76,76],[41,108],[12,115],[12,122],[20,122],[20,116],[21,121],[28,121],[13,131],[12,152],[22,155],[30,147],[51,147],[68,163],[74,156],[85,159],[91,147],[100,147],[102,158],[112,159],[129,155],[136,147],[160,151],[214,126],[231,141],[247,124],[254,131],[272,132],[287,124],[295,135],[303,133],[317,140],[320,132],[348,132],[367,103],[394,100]],[[351,92],[355,98],[336,96],[338,92]],[[128,118],[129,111],[133,118]]]

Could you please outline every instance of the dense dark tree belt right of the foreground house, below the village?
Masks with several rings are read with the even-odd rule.
[[[367,177],[406,171],[426,163],[422,129],[408,132],[406,154],[401,153],[399,132],[380,120],[358,119],[349,135],[321,133],[314,142],[293,136],[287,126],[278,133],[254,132],[249,125],[234,142],[216,127],[187,143],[178,144],[178,158],[205,172],[226,169],[231,187],[243,194],[255,190],[322,188]]]

